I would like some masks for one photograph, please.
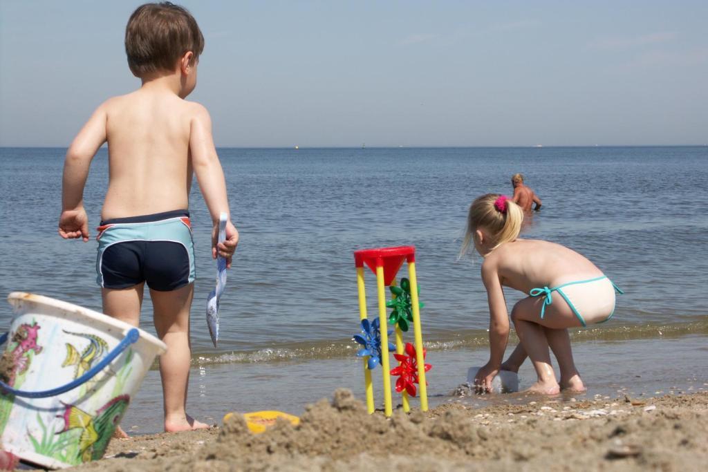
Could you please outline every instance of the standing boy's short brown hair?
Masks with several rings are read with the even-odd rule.
[[[172,71],[185,52],[193,52],[196,60],[203,50],[197,21],[186,8],[169,1],[139,6],[125,27],[125,54],[136,77]]]

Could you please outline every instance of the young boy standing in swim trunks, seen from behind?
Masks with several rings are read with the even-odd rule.
[[[212,257],[231,260],[239,233],[230,221],[217,244],[219,214],[229,214],[226,183],[207,110],[184,98],[197,83],[204,38],[181,6],[145,4],[130,16],[125,52],[142,86],[96,109],[64,163],[59,235],[89,241],[83,192],[94,154],[108,142],[110,180],[98,227],[103,312],[138,326],[145,283],[167,352],[160,357],[167,432],[207,427],[187,415],[189,312],[194,249],[188,195],[193,173],[214,224]]]

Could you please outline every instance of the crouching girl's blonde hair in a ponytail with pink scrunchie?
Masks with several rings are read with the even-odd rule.
[[[477,197],[469,205],[467,214],[467,231],[464,234],[460,257],[467,254],[470,246],[474,246],[475,231],[484,229],[491,238],[490,251],[503,243],[514,241],[521,232],[524,212],[513,201],[497,193],[488,193]]]

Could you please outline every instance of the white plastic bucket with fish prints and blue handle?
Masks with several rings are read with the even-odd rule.
[[[0,361],[1,449],[40,466],[101,459],[166,345],[110,316],[23,292]]]

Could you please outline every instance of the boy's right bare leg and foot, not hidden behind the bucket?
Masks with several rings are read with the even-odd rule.
[[[194,284],[171,292],[150,290],[157,335],[167,345],[160,356],[160,376],[164,398],[165,431],[176,432],[209,427],[187,415],[187,387],[191,349],[189,311]]]

